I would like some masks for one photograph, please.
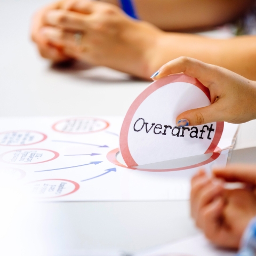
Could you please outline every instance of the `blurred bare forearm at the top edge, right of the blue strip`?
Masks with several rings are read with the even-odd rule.
[[[102,0],[119,6],[118,0]],[[222,25],[242,15],[252,0],[133,0],[141,20],[166,31]]]

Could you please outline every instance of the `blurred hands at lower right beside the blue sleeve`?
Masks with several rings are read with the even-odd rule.
[[[224,182],[243,182],[244,188],[225,189]],[[256,167],[229,165],[201,170],[191,180],[191,217],[211,242],[237,249],[244,230],[256,215]],[[250,188],[249,188],[250,187]]]

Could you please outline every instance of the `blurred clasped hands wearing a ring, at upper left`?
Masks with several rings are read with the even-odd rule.
[[[145,63],[158,34],[161,30],[132,20],[113,4],[85,0],[48,6],[35,15],[32,28],[45,58],[73,58],[140,77],[147,74]]]

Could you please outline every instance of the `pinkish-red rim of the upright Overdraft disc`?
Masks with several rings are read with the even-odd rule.
[[[137,166],[138,164],[135,162],[133,159],[130,149],[128,147],[128,133],[129,133],[129,128],[132,122],[132,118],[137,111],[137,109],[140,107],[141,103],[153,92],[161,88],[162,86],[170,83],[175,83],[175,82],[185,82],[185,83],[190,83],[195,86],[197,86],[199,89],[201,89],[205,95],[208,97],[208,99],[211,101],[210,97],[210,91],[207,87],[205,87],[203,84],[201,84],[196,78],[187,76],[185,74],[176,74],[176,75],[171,75],[171,76],[166,76],[163,77],[153,83],[151,83],[147,89],[145,89],[133,102],[129,110],[127,111],[124,122],[122,124],[121,132],[120,132],[120,149],[122,152],[122,155],[125,156],[125,163],[128,166]],[[212,140],[211,145],[207,150],[205,151],[204,154],[207,153],[212,153],[214,150],[217,148],[218,143],[220,141],[222,132],[224,128],[224,122],[216,122],[216,131]]]

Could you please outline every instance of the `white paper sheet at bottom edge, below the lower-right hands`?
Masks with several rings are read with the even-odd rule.
[[[234,251],[220,249],[212,245],[200,234],[177,242],[156,246],[133,256],[234,256]]]

